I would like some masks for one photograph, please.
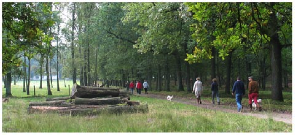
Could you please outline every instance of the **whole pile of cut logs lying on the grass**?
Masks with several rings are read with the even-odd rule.
[[[74,84],[69,97],[47,98],[30,102],[28,114],[58,113],[70,116],[89,116],[122,113],[148,113],[148,104],[130,101],[128,92],[117,88],[83,87]]]

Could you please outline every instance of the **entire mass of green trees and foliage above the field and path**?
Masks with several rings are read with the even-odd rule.
[[[2,10],[4,75],[23,55],[57,55],[62,76],[85,86],[148,80],[171,91],[174,81],[190,92],[201,77],[205,85],[217,78],[229,93],[236,76],[251,75],[262,89],[271,78],[278,101],[292,76],[292,3],[3,3]]]

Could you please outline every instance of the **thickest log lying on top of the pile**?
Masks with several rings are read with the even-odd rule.
[[[71,99],[74,97],[79,98],[96,98],[96,97],[118,97],[120,91],[117,88],[98,88],[98,87],[83,87],[74,84],[71,93]]]

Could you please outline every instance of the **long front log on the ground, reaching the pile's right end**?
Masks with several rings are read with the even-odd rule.
[[[148,113],[148,104],[138,106],[115,106],[96,109],[71,109],[70,116],[85,116],[99,114]]]

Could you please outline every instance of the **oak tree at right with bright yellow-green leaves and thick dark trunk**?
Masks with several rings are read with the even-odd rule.
[[[225,58],[234,49],[244,52],[268,48],[271,51],[272,99],[283,101],[281,49],[291,45],[292,26],[291,3],[189,3],[193,18],[198,21],[194,30],[197,42],[207,42],[204,36],[214,35],[214,44],[202,44],[197,53],[187,59],[195,61],[194,56],[211,57],[208,46],[215,46],[219,56]],[[216,14],[217,13],[217,14]],[[217,15],[215,17],[214,15]],[[212,24],[206,23],[215,19]],[[231,20],[231,21],[228,21]],[[287,34],[288,33],[288,34]],[[292,34],[291,34],[292,35]],[[209,42],[210,43],[210,42]],[[244,58],[245,53],[238,57]]]

